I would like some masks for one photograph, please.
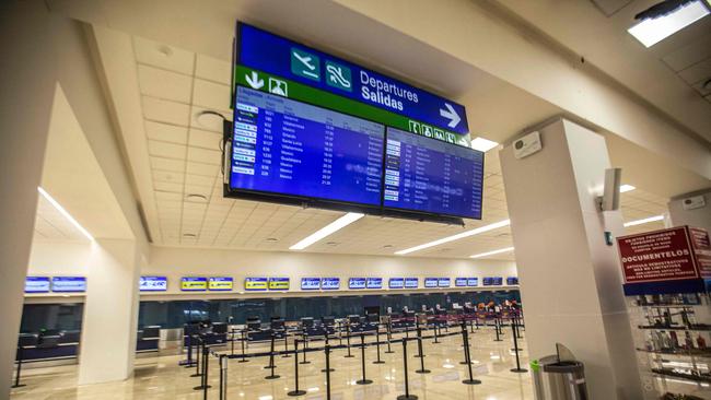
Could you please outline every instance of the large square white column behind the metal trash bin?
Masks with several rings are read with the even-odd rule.
[[[564,119],[539,129],[543,150],[500,153],[532,358],[567,345],[585,364],[592,399],[641,396],[617,250],[619,211],[597,211],[605,139]]]

